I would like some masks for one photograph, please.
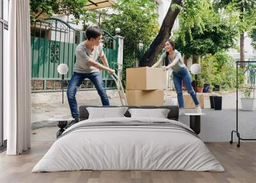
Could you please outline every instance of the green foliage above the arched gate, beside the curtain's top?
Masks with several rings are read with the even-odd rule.
[[[61,15],[74,15],[79,19],[86,12],[85,5],[88,0],[30,0],[31,20],[36,19],[36,14],[46,13],[49,17],[53,13]]]

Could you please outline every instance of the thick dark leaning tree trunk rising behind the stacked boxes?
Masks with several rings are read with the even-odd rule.
[[[153,65],[154,61],[156,60],[156,56],[159,54],[159,51],[163,49],[164,42],[170,38],[174,21],[180,12],[177,9],[172,11],[172,4],[181,5],[181,2],[182,0],[173,0],[170,4],[170,8],[164,17],[163,24],[158,35],[140,60],[140,67]]]

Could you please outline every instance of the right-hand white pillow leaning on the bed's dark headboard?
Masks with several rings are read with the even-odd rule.
[[[132,118],[167,118],[170,109],[128,109]]]

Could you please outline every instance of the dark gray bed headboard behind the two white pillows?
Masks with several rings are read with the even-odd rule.
[[[120,106],[79,106],[79,121],[87,120],[89,117],[89,113],[86,109],[86,107],[120,107]],[[129,109],[132,108],[138,108],[138,109],[170,109],[170,112],[168,113],[167,118],[169,120],[179,120],[179,107],[178,106],[125,106],[129,107]],[[131,117],[131,114],[127,110],[124,114],[126,117]]]

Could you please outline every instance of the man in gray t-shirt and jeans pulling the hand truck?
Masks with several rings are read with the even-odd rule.
[[[81,44],[77,45],[76,47],[76,63],[73,70],[74,74],[68,84],[68,104],[72,117],[75,120],[68,124],[67,127],[70,127],[79,121],[76,92],[77,88],[86,78],[90,79],[97,89],[102,101],[102,105],[109,106],[108,95],[104,88],[104,83],[102,81],[102,76],[100,76],[99,70],[106,70],[111,75],[115,72],[115,70],[109,68],[108,60],[104,55],[102,45],[100,44],[102,40],[102,31],[97,26],[89,27],[86,30],[86,37],[87,40],[81,42]],[[97,62],[98,58],[100,58],[104,65]]]

